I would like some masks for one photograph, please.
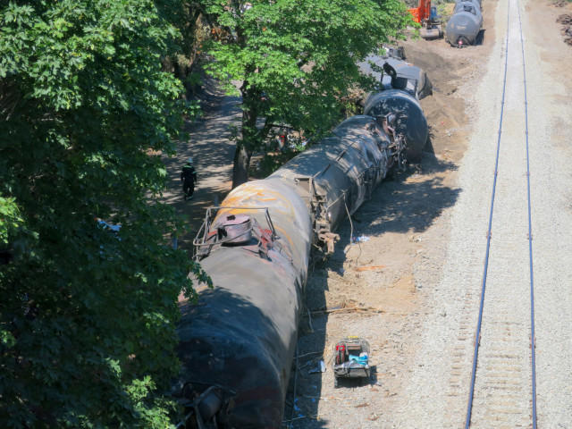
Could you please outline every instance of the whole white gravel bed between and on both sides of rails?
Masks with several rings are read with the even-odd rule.
[[[500,0],[495,12],[496,44],[487,74],[471,103],[474,134],[459,169],[462,193],[447,214],[450,244],[442,281],[429,299],[433,311],[427,316],[414,374],[408,381],[408,400],[399,415],[393,416],[391,427],[464,425],[484,269],[509,1],[512,18],[505,122],[481,337],[483,360],[477,369],[472,427],[531,424],[522,60],[517,0]],[[521,5],[521,13],[530,121],[538,423],[539,427],[572,427],[570,82],[551,72],[545,63],[541,37],[529,37],[534,32],[542,36],[545,29],[533,28],[526,4]],[[416,267],[416,282],[424,282],[426,267],[425,262]],[[487,337],[491,341],[487,342]]]

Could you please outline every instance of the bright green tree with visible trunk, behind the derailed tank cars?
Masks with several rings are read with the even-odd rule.
[[[218,38],[208,70],[240,81],[242,122],[232,186],[275,124],[312,134],[339,121],[340,100],[362,82],[356,63],[411,22],[400,0],[201,0]]]

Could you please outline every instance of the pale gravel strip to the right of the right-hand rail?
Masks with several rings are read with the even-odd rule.
[[[529,6],[533,0],[527,0]],[[572,427],[572,49],[523,13],[533,219],[538,427]],[[559,43],[551,43],[558,40]],[[548,41],[548,43],[547,43]],[[567,64],[568,73],[551,67]]]

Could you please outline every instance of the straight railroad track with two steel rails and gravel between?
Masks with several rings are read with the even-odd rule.
[[[525,46],[518,0],[508,2],[504,53],[467,429],[536,428],[531,172]],[[523,247],[527,247],[528,257],[520,257],[525,254]]]

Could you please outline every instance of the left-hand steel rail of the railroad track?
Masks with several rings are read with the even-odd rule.
[[[476,324],[475,333],[475,350],[473,353],[473,369],[471,371],[471,385],[468,393],[468,403],[467,403],[467,418],[465,420],[465,429],[468,429],[471,425],[471,413],[473,411],[473,399],[475,396],[475,377],[476,377],[476,362],[479,354],[479,345],[481,342],[481,326],[483,324],[483,308],[484,308],[484,291],[486,290],[486,277],[489,268],[489,255],[491,250],[491,232],[492,232],[492,212],[494,210],[494,196],[497,188],[497,177],[499,173],[499,154],[501,153],[501,134],[502,134],[502,120],[504,117],[504,100],[507,92],[507,70],[509,67],[509,29],[510,29],[510,0],[508,2],[508,12],[507,12],[507,38],[505,46],[505,56],[504,56],[504,77],[502,79],[502,101],[501,101],[501,119],[499,121],[499,135],[497,139],[497,151],[496,159],[494,163],[494,179],[492,181],[492,196],[491,196],[491,210],[489,213],[489,228],[486,237],[486,252],[484,254],[484,272],[483,272],[483,282],[481,286],[481,302],[479,305],[479,317]]]

